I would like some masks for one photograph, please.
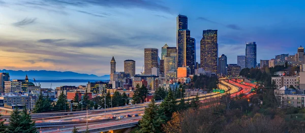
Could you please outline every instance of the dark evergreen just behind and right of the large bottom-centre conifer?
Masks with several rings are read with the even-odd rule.
[[[164,115],[166,116],[166,121],[168,121],[171,118],[172,113],[177,110],[176,99],[171,90],[168,91],[167,97],[160,104],[160,109],[164,112]]]

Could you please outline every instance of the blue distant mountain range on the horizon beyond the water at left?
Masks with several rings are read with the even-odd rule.
[[[60,80],[60,79],[86,79],[86,80],[109,80],[110,75],[97,76],[94,74],[82,74],[71,71],[60,72],[60,71],[47,71],[47,70],[6,70],[0,69],[0,72],[10,73],[10,79],[24,79],[27,74],[28,79],[35,78],[36,80]]]

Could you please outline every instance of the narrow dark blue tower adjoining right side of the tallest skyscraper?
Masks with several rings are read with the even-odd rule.
[[[190,74],[195,73],[196,66],[196,40],[190,37],[189,46],[187,46],[187,66],[190,68]]]

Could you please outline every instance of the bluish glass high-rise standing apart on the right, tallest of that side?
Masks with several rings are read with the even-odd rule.
[[[255,68],[257,65],[256,61],[256,43],[246,43],[246,67]]]

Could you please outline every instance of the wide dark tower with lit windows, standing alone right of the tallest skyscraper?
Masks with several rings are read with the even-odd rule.
[[[217,74],[217,30],[203,30],[200,41],[200,65],[205,71],[211,71]]]

